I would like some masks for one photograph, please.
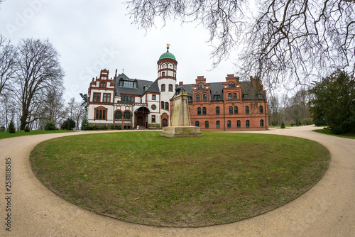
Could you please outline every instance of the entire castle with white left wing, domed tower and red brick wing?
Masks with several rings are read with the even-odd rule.
[[[89,85],[89,126],[119,126],[122,129],[170,126],[178,61],[169,52],[160,55],[155,81],[131,79],[124,73],[109,79],[101,70]],[[201,131],[251,131],[268,129],[266,92],[259,79],[248,82],[227,75],[226,82],[183,84],[189,98],[192,126]]]

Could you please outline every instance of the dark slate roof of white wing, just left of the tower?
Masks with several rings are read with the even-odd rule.
[[[137,82],[137,88],[133,87],[119,87],[119,80],[124,79],[124,81],[130,81],[130,82]],[[131,79],[124,75],[124,73],[118,75],[116,77],[116,96],[120,96],[121,94],[135,94],[135,95],[142,95],[144,94],[144,89],[145,87],[151,87],[153,82],[143,80],[143,79]]]

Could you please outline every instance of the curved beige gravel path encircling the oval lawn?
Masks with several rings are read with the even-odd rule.
[[[0,236],[355,236],[355,140],[312,132],[314,126],[258,133],[297,136],[325,145],[332,161],[323,179],[293,202],[233,224],[160,228],[94,214],[53,194],[28,157],[43,140],[73,133],[0,140]],[[75,135],[89,133],[78,132]],[[97,132],[96,132],[97,133]],[[5,158],[11,158],[11,232],[6,231]]]

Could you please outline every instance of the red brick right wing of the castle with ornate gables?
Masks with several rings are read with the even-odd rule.
[[[252,131],[268,129],[268,104],[260,80],[240,82],[228,75],[226,82],[184,85],[189,94],[192,126],[201,131]],[[173,101],[170,101],[170,116]]]

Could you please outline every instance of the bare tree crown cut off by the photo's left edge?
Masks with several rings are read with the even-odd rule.
[[[16,63],[15,57],[16,48],[0,34],[0,94],[4,92],[7,84],[13,77]]]

